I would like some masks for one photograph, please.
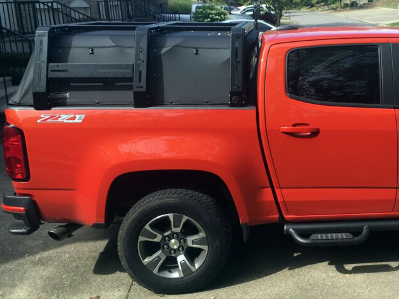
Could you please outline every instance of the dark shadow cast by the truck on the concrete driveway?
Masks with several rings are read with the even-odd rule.
[[[294,270],[328,262],[342,274],[380,273],[399,270],[399,232],[372,234],[358,246],[306,248],[284,236],[282,226],[264,225],[251,229],[243,248],[229,260],[219,278],[207,289],[245,283],[283,269]],[[363,265],[363,264],[369,265]],[[388,263],[397,263],[392,266]],[[111,236],[94,265],[93,273],[110,275],[124,269],[117,251],[117,233]]]

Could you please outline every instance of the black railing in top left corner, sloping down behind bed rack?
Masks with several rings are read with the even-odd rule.
[[[57,1],[0,2],[0,25],[24,35],[34,34],[39,26],[94,20]]]

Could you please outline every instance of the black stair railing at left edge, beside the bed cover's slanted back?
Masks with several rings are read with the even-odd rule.
[[[33,51],[32,40],[0,26],[0,77],[8,101],[6,77],[12,78],[12,85],[18,85]]]

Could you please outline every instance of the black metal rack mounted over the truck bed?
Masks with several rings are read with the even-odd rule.
[[[134,30],[134,53],[132,54],[134,63],[106,63],[106,61],[102,61],[104,63],[51,63],[49,61],[49,39],[53,36],[100,30]],[[85,22],[39,27],[36,30],[32,83],[34,108],[40,110],[54,106],[54,103],[49,100],[49,81],[61,79],[76,79],[79,82],[93,82],[94,80],[107,84],[113,80],[117,82],[132,81],[131,104],[134,107],[153,105],[148,94],[148,69],[150,67],[148,52],[151,37],[160,33],[183,31],[209,32],[209,35],[211,32],[228,32],[230,36],[230,92],[229,101],[226,104],[233,107],[245,105],[244,39],[249,32],[253,31],[253,22]],[[94,50],[89,49],[89,51]]]

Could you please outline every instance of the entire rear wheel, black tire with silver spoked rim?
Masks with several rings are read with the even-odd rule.
[[[230,247],[229,220],[217,202],[184,189],[142,198],[125,216],[118,236],[118,253],[127,273],[163,294],[190,293],[213,281]]]

